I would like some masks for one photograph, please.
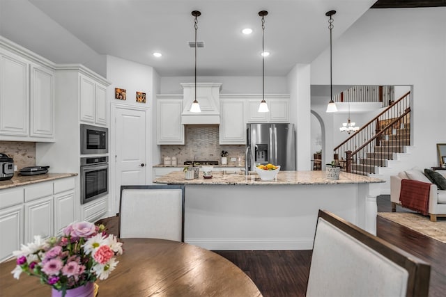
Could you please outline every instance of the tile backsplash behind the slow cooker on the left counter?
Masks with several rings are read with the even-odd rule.
[[[13,158],[17,170],[28,166],[36,166],[36,143],[0,141],[0,152]]]

